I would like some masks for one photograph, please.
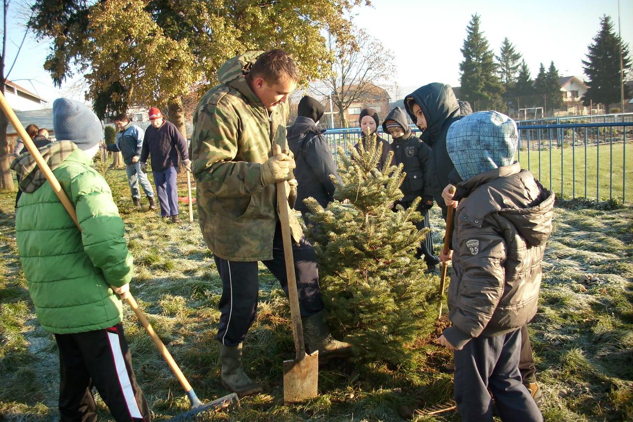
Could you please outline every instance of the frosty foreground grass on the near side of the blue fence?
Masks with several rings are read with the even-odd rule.
[[[134,255],[132,293],[197,395],[204,400],[225,395],[214,338],[222,283],[197,221],[161,221],[157,212],[147,211],[145,200],[144,210],[132,207],[123,170],[109,170],[106,179]],[[179,189],[185,196],[182,175]],[[14,193],[0,192],[0,419],[54,421],[57,348],[35,319],[17,258],[14,198]],[[437,207],[431,223],[439,250],[444,224]],[[633,208],[598,210],[574,203],[556,208],[543,264],[541,305],[530,323],[547,421],[633,420],[632,255]],[[594,280],[582,283],[586,275]],[[188,401],[179,383],[127,306],[123,324],[154,419],[186,411]],[[244,364],[265,385],[265,392],[211,419],[342,422],[413,416],[415,421],[459,421],[454,411],[412,414],[414,409],[423,413],[446,406],[452,397],[452,376],[439,371],[451,354],[429,340],[415,343],[413,368],[384,362],[322,366],[319,397],[284,406],[282,361],[294,356],[289,310],[279,283],[260,266],[259,312],[244,345]],[[98,404],[100,420],[108,420],[103,402]]]

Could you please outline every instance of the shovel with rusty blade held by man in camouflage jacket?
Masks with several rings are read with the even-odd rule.
[[[280,146],[275,144],[273,154],[280,153]],[[318,350],[308,355],[303,343],[303,326],[301,326],[297,281],[294,275],[294,259],[292,259],[290,207],[288,206],[285,182],[277,182],[277,207],[279,208],[281,234],[284,241],[285,274],[288,279],[292,336],[296,351],[294,360],[284,361],[284,404],[291,404],[305,399],[313,399],[318,395]]]

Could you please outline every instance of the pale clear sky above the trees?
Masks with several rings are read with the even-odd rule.
[[[5,72],[24,34],[21,7],[11,2]],[[584,78],[581,60],[600,29],[600,17],[611,16],[618,30],[617,0],[372,0],[371,8],[356,8],[352,19],[392,50],[398,68],[395,82],[404,96],[430,82],[460,85],[460,48],[473,13],[480,15],[480,29],[495,54],[508,37],[523,54],[532,77],[539,63],[547,68],[553,60],[561,76]],[[620,26],[622,38],[632,49],[633,0],[620,0]],[[72,81],[53,88],[43,69],[48,51],[46,42],[37,43],[32,34],[27,35],[9,79],[51,103],[58,96],[83,99],[72,89]]]

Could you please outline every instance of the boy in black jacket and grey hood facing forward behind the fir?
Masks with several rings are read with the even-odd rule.
[[[382,129],[393,138],[391,149],[394,151],[392,165],[403,164],[406,177],[400,190],[403,198],[396,204],[402,205],[406,210],[411,206],[415,198],[422,198],[417,211],[423,215],[424,220],[415,223],[418,230],[423,227],[430,228],[429,209],[433,206],[433,191],[430,184],[429,155],[431,149],[420,138],[413,136],[407,124],[406,113],[399,107],[391,110],[382,124]],[[417,258],[424,255],[429,271],[435,269],[439,259],[433,252],[433,238],[431,232],[427,233],[425,240],[418,247]]]

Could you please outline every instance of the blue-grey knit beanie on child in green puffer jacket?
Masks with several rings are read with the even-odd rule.
[[[72,141],[83,151],[103,140],[103,125],[97,115],[73,99],[53,101],[53,129],[58,140]]]

